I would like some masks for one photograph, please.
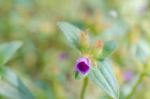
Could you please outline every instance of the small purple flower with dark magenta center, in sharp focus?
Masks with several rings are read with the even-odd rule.
[[[88,58],[79,58],[76,62],[75,70],[76,72],[87,75],[91,69],[91,62]]]

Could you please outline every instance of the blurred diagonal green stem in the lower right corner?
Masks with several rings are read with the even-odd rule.
[[[143,81],[144,77],[145,77],[145,71],[143,71],[143,72],[140,74],[139,79],[138,79],[137,82],[135,83],[135,85],[134,85],[134,87],[133,87],[131,93],[126,97],[126,99],[131,99],[131,98],[132,98],[132,96],[133,96],[134,93],[136,92],[138,86],[139,86],[139,85],[141,84],[141,82]]]

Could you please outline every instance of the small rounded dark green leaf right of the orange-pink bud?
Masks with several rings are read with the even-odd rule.
[[[106,57],[110,56],[114,50],[116,49],[117,45],[114,41],[107,41],[104,44],[104,48],[99,60],[103,61]]]

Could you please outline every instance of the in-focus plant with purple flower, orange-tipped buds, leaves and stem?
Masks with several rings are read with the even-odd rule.
[[[119,99],[119,87],[111,67],[111,61],[106,59],[116,49],[116,43],[98,40],[93,44],[90,42],[88,31],[82,31],[67,22],[60,22],[58,25],[70,45],[80,53],[75,64],[75,78],[84,79],[80,98],[84,98],[88,78],[90,78],[109,96]]]

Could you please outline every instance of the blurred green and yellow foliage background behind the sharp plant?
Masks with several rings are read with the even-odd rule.
[[[111,59],[122,96],[150,64],[149,0],[0,0],[0,43],[23,42],[7,65],[37,99],[79,99],[82,81],[74,79],[78,54],[59,21],[88,29],[94,40],[117,41]],[[148,76],[133,99],[150,99]],[[85,99],[110,98],[90,82]]]

